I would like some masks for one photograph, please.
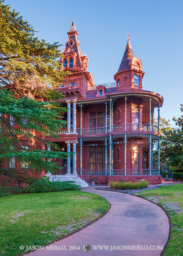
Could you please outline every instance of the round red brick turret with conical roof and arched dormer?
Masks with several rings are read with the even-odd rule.
[[[141,60],[134,56],[129,39],[130,35],[127,34],[127,36],[127,46],[118,72],[114,75],[116,91],[142,90],[142,78],[145,72],[142,71]]]

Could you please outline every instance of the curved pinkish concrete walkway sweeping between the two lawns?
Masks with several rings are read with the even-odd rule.
[[[110,210],[90,226],[28,255],[160,256],[170,228],[165,212],[143,198],[95,188],[82,188],[82,191],[105,197],[111,204]],[[84,244],[90,244],[89,252],[82,251]],[[99,247],[102,245],[108,249]]]

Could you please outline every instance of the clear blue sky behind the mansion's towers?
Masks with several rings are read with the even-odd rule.
[[[160,115],[172,125],[172,118],[182,115],[182,1],[6,0],[5,4],[20,12],[39,31],[40,39],[62,43],[62,50],[74,18],[95,84],[114,81],[129,32],[134,55],[146,72],[143,89],[164,97]]]

